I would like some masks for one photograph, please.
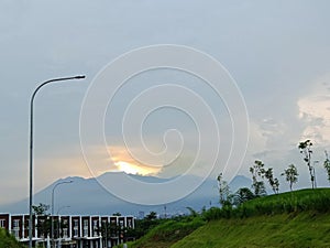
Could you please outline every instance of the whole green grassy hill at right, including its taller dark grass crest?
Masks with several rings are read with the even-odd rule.
[[[185,223],[169,220],[129,247],[330,248],[330,188],[270,195],[234,209],[211,208]]]

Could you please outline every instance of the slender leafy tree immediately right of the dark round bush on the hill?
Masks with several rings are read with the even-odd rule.
[[[266,195],[265,183],[262,181],[265,173],[264,163],[260,160],[254,161],[254,165],[250,168],[250,172],[252,174],[252,188],[254,190],[254,195]]]

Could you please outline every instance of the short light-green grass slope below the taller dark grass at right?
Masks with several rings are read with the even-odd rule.
[[[310,212],[212,220],[168,247],[330,247],[330,215]]]

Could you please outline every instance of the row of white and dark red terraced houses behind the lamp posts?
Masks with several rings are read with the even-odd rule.
[[[0,227],[28,244],[29,219],[29,215],[0,214]],[[134,228],[133,216],[33,216],[32,240],[33,245],[53,244],[52,247],[109,248],[133,240]]]

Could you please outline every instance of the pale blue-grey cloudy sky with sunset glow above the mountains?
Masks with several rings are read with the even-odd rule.
[[[42,82],[62,76],[87,78],[48,85],[35,99],[35,191],[61,177],[108,171],[170,177],[208,170],[208,160],[216,154],[211,144],[202,150],[197,169],[189,171],[200,151],[199,139],[216,142],[218,137],[206,128],[211,121],[202,121],[206,109],[189,98],[194,94],[184,98],[194,115],[166,105],[135,123],[139,108],[127,111],[132,103],[152,107],[163,98],[182,99],[185,93],[173,84],[191,89],[216,117],[220,166],[208,175],[223,170],[233,140],[231,109],[201,78],[185,72],[155,69],[122,84],[103,114],[106,142],[94,140],[95,130],[81,123],[81,112],[92,112],[86,99],[102,69],[122,54],[158,44],[212,56],[238,86],[249,117],[249,143],[246,153],[240,154],[242,162],[228,165],[229,171],[234,168],[229,174],[249,176],[249,166],[262,160],[279,176],[294,163],[300,174],[298,186],[309,186],[297,144],[310,139],[312,161],[319,161],[318,184],[329,185],[322,169],[323,151],[330,150],[329,8],[327,0],[1,1],[0,204],[28,196],[30,98]],[[108,83],[116,84],[111,78]],[[125,114],[131,115],[128,127],[122,121]],[[90,139],[87,148],[80,145],[81,127],[82,137]],[[125,138],[122,128],[130,133]],[[288,190],[282,183],[282,190]]]

